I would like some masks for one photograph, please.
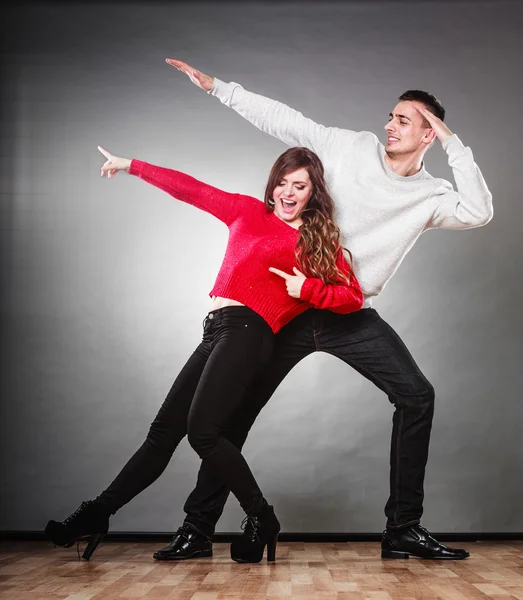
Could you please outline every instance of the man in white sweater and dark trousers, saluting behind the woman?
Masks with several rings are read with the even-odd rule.
[[[227,437],[238,447],[243,445],[259,411],[302,358],[315,351],[337,356],[383,390],[395,406],[382,557],[467,558],[466,550],[440,544],[420,525],[434,389],[399,336],[371,308],[371,299],[424,231],[468,229],[490,221],[492,196],[472,152],[443,123],[443,107],[426,92],[409,90],[400,96],[385,125],[387,140],[382,145],[372,133],[324,127],[236,83],[209,77],[182,61],[167,62],[262,131],[318,154],[336,203],[344,245],[353,254],[365,294],[363,309],[357,313],[336,315],[311,309],[280,331],[271,367],[235,416]],[[424,154],[436,138],[448,154],[456,190],[424,169]],[[287,280],[288,286],[292,279]],[[211,537],[228,493],[202,465],[184,507],[184,525],[154,557],[211,555]],[[244,535],[255,531],[256,524],[248,523]]]

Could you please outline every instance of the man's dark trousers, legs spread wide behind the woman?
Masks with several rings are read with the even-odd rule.
[[[289,371],[312,352],[343,360],[384,391],[395,406],[390,450],[388,527],[420,521],[423,481],[434,413],[434,389],[423,376],[397,333],[374,309],[348,315],[308,310],[275,337],[269,366],[228,425],[227,437],[242,448],[247,434]],[[229,494],[227,483],[202,463],[196,488],[187,499],[186,522],[212,536]]]

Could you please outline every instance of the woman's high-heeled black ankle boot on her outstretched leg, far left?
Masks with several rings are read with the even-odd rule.
[[[109,529],[109,515],[104,506],[93,500],[82,502],[64,521],[49,521],[46,537],[56,546],[71,547],[75,542],[87,540],[82,558],[89,560]]]

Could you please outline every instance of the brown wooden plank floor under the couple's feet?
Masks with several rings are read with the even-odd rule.
[[[454,544],[464,561],[381,560],[378,543],[280,543],[277,562],[156,562],[163,544],[106,542],[90,562],[45,542],[0,544],[2,600],[523,600],[523,541]]]

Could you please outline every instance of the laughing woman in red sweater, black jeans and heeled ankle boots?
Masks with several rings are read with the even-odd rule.
[[[174,382],[144,444],[98,498],[82,503],[63,522],[50,521],[46,534],[60,546],[89,537],[83,555],[88,560],[107,533],[109,516],[160,476],[187,435],[247,514],[244,534],[231,544],[233,560],[259,562],[267,546],[267,559],[274,561],[280,524],[224,432],[249,383],[267,366],[274,333],[311,307],[339,313],[361,308],[363,295],[332,220],[323,165],[306,148],[287,150],[271,170],[262,203],[99,150],[107,158],[102,176],[126,171],[213,214],[229,227],[229,242],[210,293],[202,343]]]

